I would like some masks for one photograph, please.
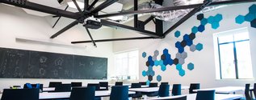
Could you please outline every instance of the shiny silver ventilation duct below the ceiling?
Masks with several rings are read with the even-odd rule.
[[[220,2],[225,0],[213,0],[213,2]],[[204,0],[174,0],[174,6],[184,6],[184,5],[191,5],[196,3],[203,3]],[[144,2],[138,5],[138,10],[153,10],[162,8],[164,6],[158,5],[154,2]],[[204,10],[201,10],[199,13],[205,13],[211,10],[219,9],[222,6],[209,6],[204,8]],[[132,11],[133,7],[129,10],[123,10],[122,12],[126,11]],[[150,13],[153,17],[160,19],[162,21],[168,21],[168,22],[175,22],[180,18],[183,18],[186,14],[188,14],[192,9],[187,10],[170,10],[170,11],[162,11],[162,12],[154,12]],[[133,15],[127,15],[124,16],[122,19],[117,19],[118,22],[126,22],[133,18]],[[116,20],[115,20],[116,21]]]

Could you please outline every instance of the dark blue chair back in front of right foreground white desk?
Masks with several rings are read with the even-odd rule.
[[[215,100],[215,90],[199,90],[195,100]]]

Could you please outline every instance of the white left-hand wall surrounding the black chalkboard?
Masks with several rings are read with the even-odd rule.
[[[57,38],[49,39],[52,34],[55,34],[70,22],[73,22],[71,19],[61,18],[57,26],[52,29],[52,25],[56,20],[57,18],[40,18],[29,15],[18,7],[0,4],[0,47],[108,58],[108,74],[111,73],[110,68],[113,65],[112,42],[97,43],[98,47],[95,48],[92,43],[76,46],[52,46],[50,44],[45,45],[35,42],[15,41],[16,37],[24,37],[71,45],[70,42],[73,41],[90,40],[85,28],[79,24],[67,30],[64,34],[59,35]],[[94,39],[112,38],[112,29],[103,28],[101,30],[91,30],[91,34]],[[83,82],[83,84],[86,85],[87,82],[99,82],[100,80],[0,78],[0,90],[14,85],[23,86],[26,82],[40,82],[48,86],[48,82],[50,81]]]

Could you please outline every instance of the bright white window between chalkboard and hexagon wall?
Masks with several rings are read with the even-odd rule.
[[[115,54],[115,78],[138,79],[139,78],[139,51],[132,50]]]

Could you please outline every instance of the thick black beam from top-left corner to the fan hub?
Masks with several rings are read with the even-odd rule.
[[[6,3],[12,6],[19,6],[29,10],[36,10],[47,14],[54,14],[65,18],[78,19],[81,15],[66,10],[60,10],[50,6],[43,6],[34,2],[28,2],[27,0],[1,0],[2,3]]]

